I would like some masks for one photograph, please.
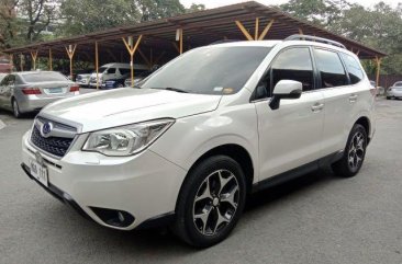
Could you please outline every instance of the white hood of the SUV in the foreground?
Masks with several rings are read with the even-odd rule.
[[[157,118],[180,118],[214,111],[222,95],[122,88],[92,92],[47,105],[41,116],[93,131]]]

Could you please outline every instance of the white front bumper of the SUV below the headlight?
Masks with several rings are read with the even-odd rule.
[[[23,137],[23,169],[30,175],[30,159],[38,151]],[[80,140],[76,140],[78,145]],[[159,216],[171,218],[187,172],[150,150],[133,157],[105,157],[71,148],[62,159],[40,151],[48,171],[47,192],[71,205],[96,222],[120,230],[132,230]],[[32,177],[32,176],[31,176]],[[99,214],[113,210],[127,213],[133,221],[113,225]]]

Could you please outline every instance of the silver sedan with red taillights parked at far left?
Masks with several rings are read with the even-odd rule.
[[[55,71],[23,71],[4,77],[0,82],[0,107],[19,118],[42,110],[59,99],[79,94],[79,87]]]

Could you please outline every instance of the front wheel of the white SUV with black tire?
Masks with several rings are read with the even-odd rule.
[[[222,184],[222,180],[227,182]],[[211,186],[208,190],[210,192],[206,186]],[[197,248],[208,248],[221,242],[234,229],[243,213],[246,191],[244,172],[235,160],[226,156],[214,156],[201,161],[191,170],[181,187],[174,233]],[[206,194],[214,198],[210,199]],[[233,197],[231,203],[230,197]],[[202,220],[204,216],[205,221]],[[221,216],[224,218],[220,218]]]

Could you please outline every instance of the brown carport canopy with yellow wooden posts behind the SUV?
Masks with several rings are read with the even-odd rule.
[[[378,70],[381,58],[386,56],[384,53],[255,1],[35,43],[4,53],[11,56],[31,55],[34,64],[36,57],[46,57],[49,69],[53,58],[92,61],[98,68],[98,64],[130,61],[130,57],[135,54],[136,64],[147,64],[150,68],[193,47],[224,39],[284,39],[293,34],[339,42],[360,59],[375,59]]]

